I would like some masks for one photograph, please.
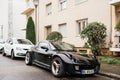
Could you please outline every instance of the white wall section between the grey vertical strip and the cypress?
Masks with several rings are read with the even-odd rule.
[[[13,37],[25,38],[26,16],[21,14],[25,9],[25,0],[13,0]]]

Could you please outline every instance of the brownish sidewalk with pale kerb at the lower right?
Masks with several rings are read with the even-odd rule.
[[[120,80],[120,64],[107,64],[102,62],[99,74]]]

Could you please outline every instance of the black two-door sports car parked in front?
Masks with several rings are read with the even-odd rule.
[[[67,74],[95,74],[100,63],[93,54],[77,52],[73,45],[65,42],[41,41],[27,51],[27,65],[36,64],[50,69],[56,77]]]

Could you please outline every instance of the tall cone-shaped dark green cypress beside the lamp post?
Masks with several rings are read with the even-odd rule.
[[[28,18],[27,27],[26,27],[26,39],[29,39],[33,44],[35,44],[36,42],[35,25],[32,17]]]

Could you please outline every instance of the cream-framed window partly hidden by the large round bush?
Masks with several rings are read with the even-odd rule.
[[[77,21],[77,35],[80,35],[81,31],[86,27],[88,19],[81,19]]]

